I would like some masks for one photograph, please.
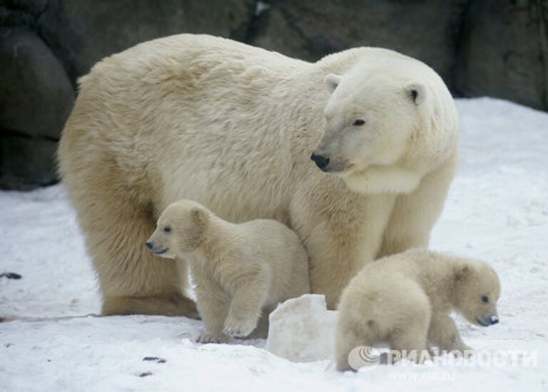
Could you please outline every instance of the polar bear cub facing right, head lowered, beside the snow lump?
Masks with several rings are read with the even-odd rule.
[[[342,292],[337,368],[350,369],[348,354],[357,346],[388,344],[417,361],[429,344],[468,350],[450,311],[472,324],[497,324],[499,295],[497,273],[473,259],[412,249],[367,264]]]

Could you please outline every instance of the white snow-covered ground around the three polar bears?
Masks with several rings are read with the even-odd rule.
[[[0,192],[2,391],[548,391],[548,114],[458,100],[462,162],[431,247],[491,262],[501,322],[459,321],[475,361],[337,373],[265,341],[200,345],[200,321],[98,317],[99,296],[62,186]],[[156,359],[146,360],[146,357]]]

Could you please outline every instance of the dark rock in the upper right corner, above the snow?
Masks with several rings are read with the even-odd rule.
[[[473,1],[455,68],[455,90],[548,110],[548,1]]]

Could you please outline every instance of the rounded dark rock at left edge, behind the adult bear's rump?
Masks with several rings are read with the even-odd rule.
[[[0,29],[0,187],[56,180],[54,151],[74,92],[61,62],[33,31]]]

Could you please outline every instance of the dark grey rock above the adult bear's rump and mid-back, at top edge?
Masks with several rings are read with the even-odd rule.
[[[253,0],[49,0],[39,28],[75,81],[101,58],[161,36],[242,40],[254,11]]]

